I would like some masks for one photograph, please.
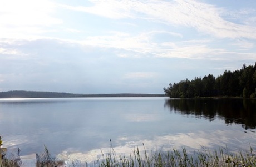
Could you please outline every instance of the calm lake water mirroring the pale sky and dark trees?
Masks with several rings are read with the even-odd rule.
[[[256,149],[256,100],[167,97],[0,99],[0,134],[24,160],[93,161],[109,151]],[[110,143],[111,139],[111,143]]]

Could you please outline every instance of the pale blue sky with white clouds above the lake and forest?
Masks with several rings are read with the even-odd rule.
[[[0,91],[164,93],[256,62],[255,0],[0,2]]]

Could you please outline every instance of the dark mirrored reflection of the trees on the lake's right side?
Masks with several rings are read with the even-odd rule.
[[[178,112],[209,121],[224,119],[225,124],[242,124],[244,129],[256,127],[256,100],[254,99],[166,99],[165,107]]]

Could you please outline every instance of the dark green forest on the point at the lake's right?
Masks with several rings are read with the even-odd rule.
[[[218,77],[212,74],[203,78],[181,80],[179,83],[169,84],[164,92],[170,98],[193,97],[243,97],[256,98],[256,63],[243,64],[240,70],[231,72],[225,70]]]

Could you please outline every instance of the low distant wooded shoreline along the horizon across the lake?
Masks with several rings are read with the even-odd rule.
[[[92,97],[166,97],[165,94],[146,93],[108,93],[108,94],[78,94],[63,92],[40,92],[12,90],[0,92],[0,98],[92,98]]]

